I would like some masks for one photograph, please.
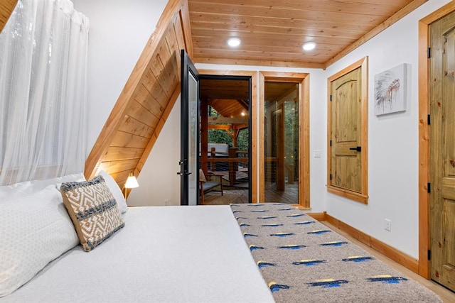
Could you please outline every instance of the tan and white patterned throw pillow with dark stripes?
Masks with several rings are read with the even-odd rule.
[[[82,248],[90,251],[124,226],[123,216],[102,176],[60,186]]]

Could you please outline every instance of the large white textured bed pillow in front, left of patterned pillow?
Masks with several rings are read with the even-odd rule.
[[[55,184],[0,203],[0,297],[79,243]]]

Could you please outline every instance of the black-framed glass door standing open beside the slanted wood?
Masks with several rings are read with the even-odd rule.
[[[181,50],[181,205],[197,205],[199,198],[199,73]]]

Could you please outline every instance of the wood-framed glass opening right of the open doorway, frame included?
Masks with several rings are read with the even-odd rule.
[[[259,202],[309,209],[309,74],[260,72],[259,96]]]

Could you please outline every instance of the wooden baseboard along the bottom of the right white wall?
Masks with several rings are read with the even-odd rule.
[[[395,262],[411,270],[412,272],[419,274],[419,260],[417,260],[416,258],[412,258],[410,255],[407,255],[402,251],[397,250],[396,248],[393,248],[392,246],[389,246],[376,238],[373,238],[372,236],[368,236],[368,234],[363,233],[362,231],[359,231],[358,229],[353,228],[352,226],[336,218],[333,218],[333,216],[329,214],[324,213],[324,215],[325,221],[327,221],[329,224],[335,226],[341,231],[348,233],[349,236],[352,236],[353,238],[362,242],[366,246],[373,248],[382,255],[385,255],[386,257],[394,260]]]

